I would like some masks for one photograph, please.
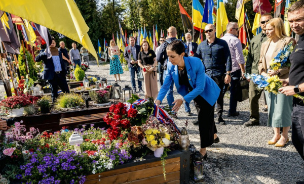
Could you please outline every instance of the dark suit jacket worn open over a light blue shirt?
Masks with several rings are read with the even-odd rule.
[[[53,59],[48,59],[47,54],[44,52],[45,50],[41,50],[40,54],[35,57],[36,62],[43,61],[43,76],[42,78],[45,80],[51,80],[55,75],[55,67],[53,63]],[[61,74],[64,76],[66,74],[66,69],[63,64],[62,54],[59,52],[60,64],[62,68]]]

